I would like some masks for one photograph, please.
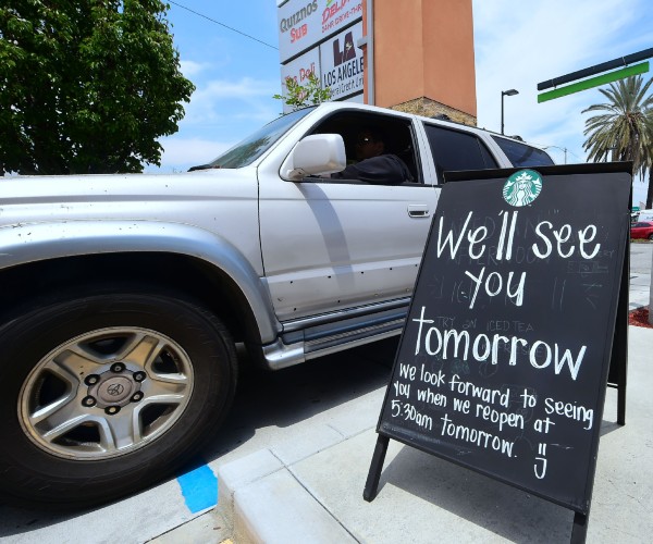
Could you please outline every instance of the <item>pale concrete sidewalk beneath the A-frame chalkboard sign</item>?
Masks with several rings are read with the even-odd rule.
[[[650,542],[653,330],[629,327],[626,425],[608,388],[588,542]],[[217,512],[246,542],[568,542],[570,510],[391,441],[379,495],[362,490],[385,387],[323,413],[304,437],[219,469]]]

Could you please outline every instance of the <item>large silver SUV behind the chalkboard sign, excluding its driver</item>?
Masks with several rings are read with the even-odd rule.
[[[411,181],[323,175],[367,126]],[[236,343],[276,370],[401,333],[443,172],[552,164],[330,102],[192,172],[0,181],[0,496],[88,507],[170,474],[229,411]]]

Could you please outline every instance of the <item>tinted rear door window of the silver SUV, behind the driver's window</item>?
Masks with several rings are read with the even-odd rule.
[[[447,170],[498,168],[485,144],[475,134],[429,124],[424,124],[424,129],[441,183],[442,173]]]

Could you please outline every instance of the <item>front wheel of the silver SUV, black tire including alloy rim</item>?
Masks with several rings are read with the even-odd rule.
[[[87,507],[171,474],[236,387],[234,343],[211,312],[134,287],[35,300],[0,327],[0,354],[10,504]]]

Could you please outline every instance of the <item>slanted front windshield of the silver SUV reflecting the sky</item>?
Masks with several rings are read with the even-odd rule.
[[[242,166],[247,166],[263,154],[272,144],[291,128],[291,126],[310,113],[313,109],[315,107],[304,108],[286,115],[282,115],[262,126],[254,134],[250,134],[243,141],[232,147],[217,159],[213,159],[208,164],[193,166],[190,170],[239,169]]]

